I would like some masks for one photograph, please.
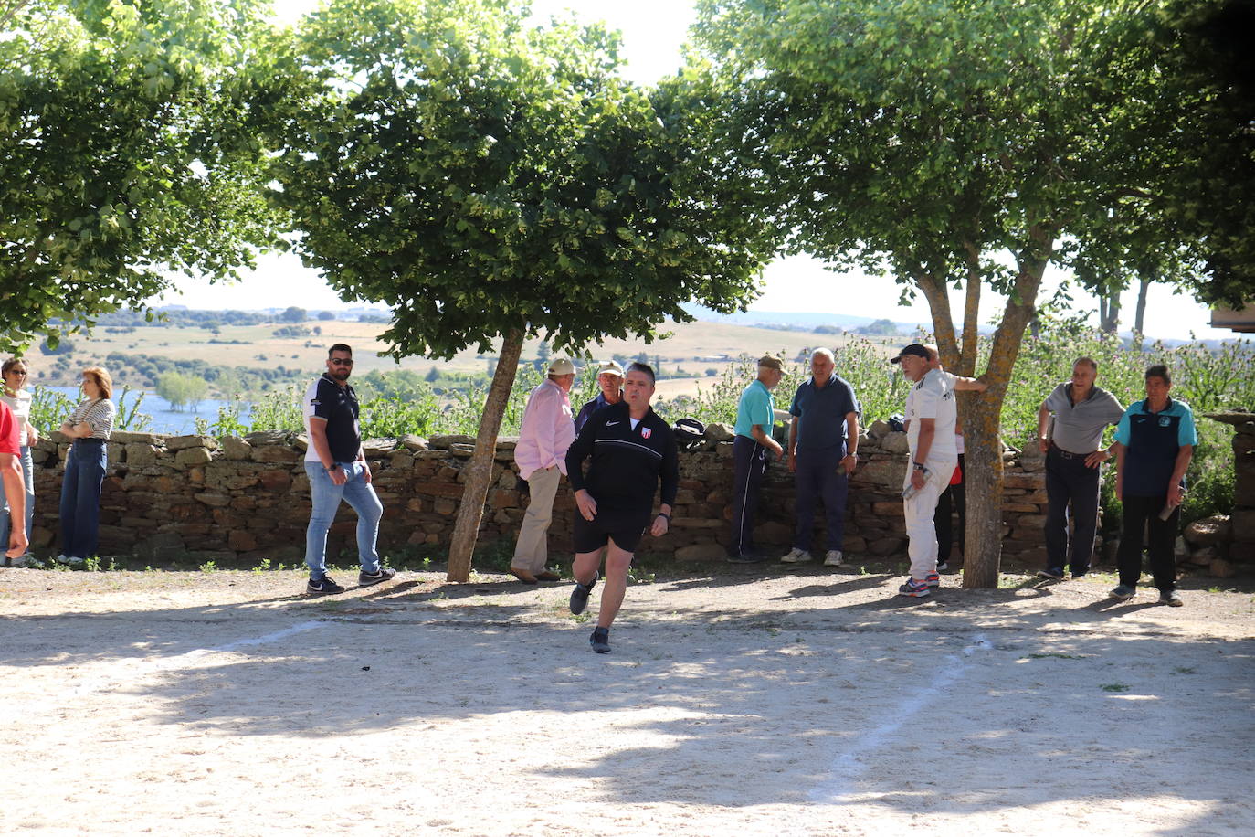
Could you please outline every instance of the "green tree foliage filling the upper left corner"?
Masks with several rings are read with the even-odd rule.
[[[18,4],[0,39],[0,350],[275,241],[238,131],[252,0]],[[59,323],[58,323],[59,321]]]

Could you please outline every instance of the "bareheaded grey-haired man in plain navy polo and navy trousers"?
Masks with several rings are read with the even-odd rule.
[[[858,464],[858,399],[853,387],[836,373],[836,358],[827,349],[811,355],[811,378],[793,394],[788,428],[788,469],[797,491],[797,530],[793,548],[781,561],[811,560],[814,502],[823,501],[827,518],[826,567],[838,567],[845,537],[846,493],[850,474]]]

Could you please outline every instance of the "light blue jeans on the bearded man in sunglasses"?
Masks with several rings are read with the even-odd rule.
[[[310,478],[310,525],[305,530],[305,563],[310,568],[310,578],[321,581],[326,577],[326,532],[335,521],[340,501],[345,501],[358,513],[358,560],[363,572],[379,571],[379,553],[375,541],[379,537],[379,518],[384,506],[375,494],[375,488],[365,479],[364,462],[338,462],[349,476],[349,482],[336,486],[331,474],[321,462],[306,462],[305,473]]]

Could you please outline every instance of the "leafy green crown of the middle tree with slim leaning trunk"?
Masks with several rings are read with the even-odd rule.
[[[476,0],[335,0],[276,73],[275,203],[395,356],[555,349],[734,310],[768,255],[712,200],[686,104],[624,83],[600,26]]]

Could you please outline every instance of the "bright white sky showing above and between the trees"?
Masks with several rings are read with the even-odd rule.
[[[296,23],[314,9],[314,0],[276,0],[276,18]],[[630,80],[651,84],[675,72],[681,64],[681,46],[688,28],[695,19],[693,0],[533,0],[533,15],[574,13],[585,21],[604,20],[622,33],[624,70]],[[1039,299],[1049,299],[1064,276],[1048,270]],[[177,291],[149,300],[154,305],[186,305],[195,309],[262,309],[299,305],[306,310],[341,309],[349,304],[326,285],[316,271],[305,269],[290,253],[261,256],[257,270],[240,282],[213,284],[187,276],[174,279]],[[779,259],[763,272],[762,292],[749,305],[750,311],[811,311],[890,319],[896,323],[931,323],[922,297],[909,306],[899,306],[901,287],[889,279],[867,279],[862,275],[841,275],[825,270],[808,257]],[[983,294],[980,321],[988,323],[1001,310],[1001,300],[988,289]],[[1130,290],[1122,299],[1121,328],[1132,323],[1137,292]],[[353,305],[360,305],[354,302]],[[961,291],[954,294],[953,305],[963,310]],[[1097,309],[1097,301],[1078,299],[1078,310]],[[1094,317],[1097,321],[1097,317]],[[1152,285],[1146,307],[1146,333],[1155,338],[1187,339],[1191,333],[1200,339],[1224,339],[1231,331],[1212,329],[1206,307],[1188,296],[1173,295],[1162,285]]]

